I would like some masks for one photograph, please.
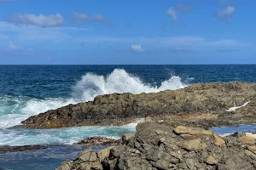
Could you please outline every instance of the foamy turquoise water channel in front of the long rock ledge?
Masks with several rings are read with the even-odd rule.
[[[73,144],[92,136],[119,139],[123,133],[136,132],[133,126],[69,127],[54,129],[0,129],[0,145]]]

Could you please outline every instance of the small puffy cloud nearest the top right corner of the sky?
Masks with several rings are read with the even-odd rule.
[[[217,11],[215,12],[214,16],[218,19],[218,20],[224,20],[227,24],[230,24],[230,20],[232,17],[232,14],[234,14],[236,11],[235,7],[226,7],[222,10],[217,9]]]

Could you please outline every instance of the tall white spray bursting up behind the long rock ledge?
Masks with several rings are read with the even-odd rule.
[[[143,83],[139,77],[127,73],[124,69],[115,69],[108,77],[98,76],[93,73],[85,74],[73,87],[73,97],[88,101],[102,94],[152,93],[166,89],[184,88],[185,86],[180,77],[171,77],[161,82],[160,87],[156,87]]]

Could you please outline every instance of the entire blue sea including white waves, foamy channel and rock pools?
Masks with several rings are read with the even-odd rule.
[[[256,65],[0,65],[0,145],[73,144],[91,136],[116,139],[123,133],[135,132],[135,125],[49,130],[14,126],[29,116],[90,101],[101,94],[150,93],[184,88],[197,82],[230,81],[256,82]],[[237,129],[255,132],[255,127],[218,127],[212,130],[217,133]],[[68,155],[70,150],[78,153],[79,149],[73,149],[71,145],[52,147],[50,152],[0,155],[0,169],[31,169],[29,166],[34,165],[38,165],[34,169],[54,169],[65,158],[74,157]],[[59,152],[65,156],[58,155]],[[46,159],[50,157],[48,153],[56,158]],[[17,168],[22,161],[26,162],[26,167]]]

